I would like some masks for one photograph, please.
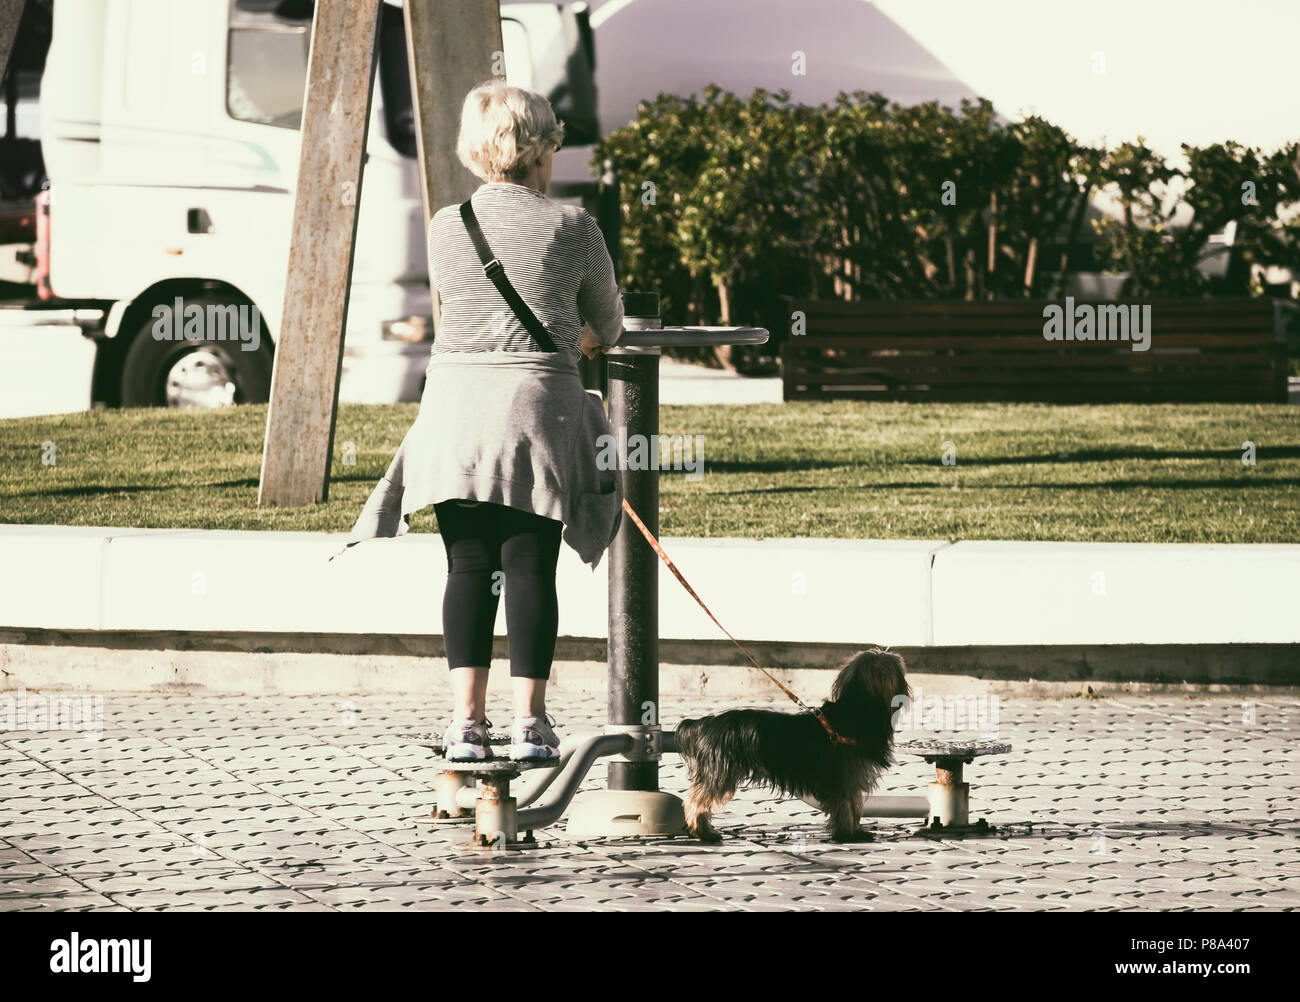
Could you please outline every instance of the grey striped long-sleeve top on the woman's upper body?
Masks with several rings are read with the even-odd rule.
[[[581,355],[584,324],[602,344],[619,339],[623,300],[601,229],[586,209],[506,182],[481,185],[471,199],[506,277],[560,352]],[[442,299],[434,353],[542,351],[484,274],[459,205],[438,209],[429,224],[429,277]]]

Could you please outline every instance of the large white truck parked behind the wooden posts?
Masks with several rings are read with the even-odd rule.
[[[500,10],[507,79],[566,120],[551,194],[599,218],[586,5]],[[312,13],[311,0],[27,0],[0,95],[0,417],[268,398]],[[344,402],[420,394],[433,322],[415,155],[403,12],[386,0]],[[159,335],[195,307],[251,315],[261,337]]]

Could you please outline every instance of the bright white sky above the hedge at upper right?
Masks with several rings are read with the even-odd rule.
[[[1086,143],[1143,135],[1178,160],[1180,143],[1300,140],[1300,0],[875,6],[1005,116],[1041,114]]]

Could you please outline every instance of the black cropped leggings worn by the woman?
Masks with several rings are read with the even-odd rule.
[[[560,532],[555,519],[503,504],[446,500],[433,506],[447,548],[442,636],[451,668],[486,668],[502,586],[510,673],[550,678],[559,630],[555,564]]]

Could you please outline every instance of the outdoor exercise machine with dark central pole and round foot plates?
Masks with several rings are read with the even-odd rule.
[[[625,292],[624,333],[607,355],[610,426],[619,442],[654,443],[659,433],[659,359],[677,346],[763,344],[762,328],[664,328],[655,292]],[[638,438],[641,437],[641,438]],[[621,464],[628,467],[628,464]],[[623,470],[624,496],[659,535],[658,463]],[[533,833],[568,812],[571,838],[675,836],[685,832],[681,799],[659,789],[659,759],[676,751],[663,730],[659,703],[659,558],[630,519],[623,519],[608,551],[608,689],[603,734],[564,742],[555,762],[510,759],[439,763],[437,804],[420,823],[474,827],[480,849],[525,849]],[[442,756],[436,734],[410,734]],[[489,747],[508,738],[490,736]],[[930,797],[872,797],[863,816],[922,817],[930,833],[980,833],[968,819],[970,788],[962,764],[976,755],[1010,751],[996,742],[909,742],[898,746],[937,763]],[[599,759],[608,759],[604,790],[573,801]],[[524,773],[528,778],[520,780]],[[511,790],[520,780],[526,786]],[[474,785],[477,781],[477,786]],[[551,795],[538,806],[543,794]],[[572,810],[568,810],[571,807]]]

